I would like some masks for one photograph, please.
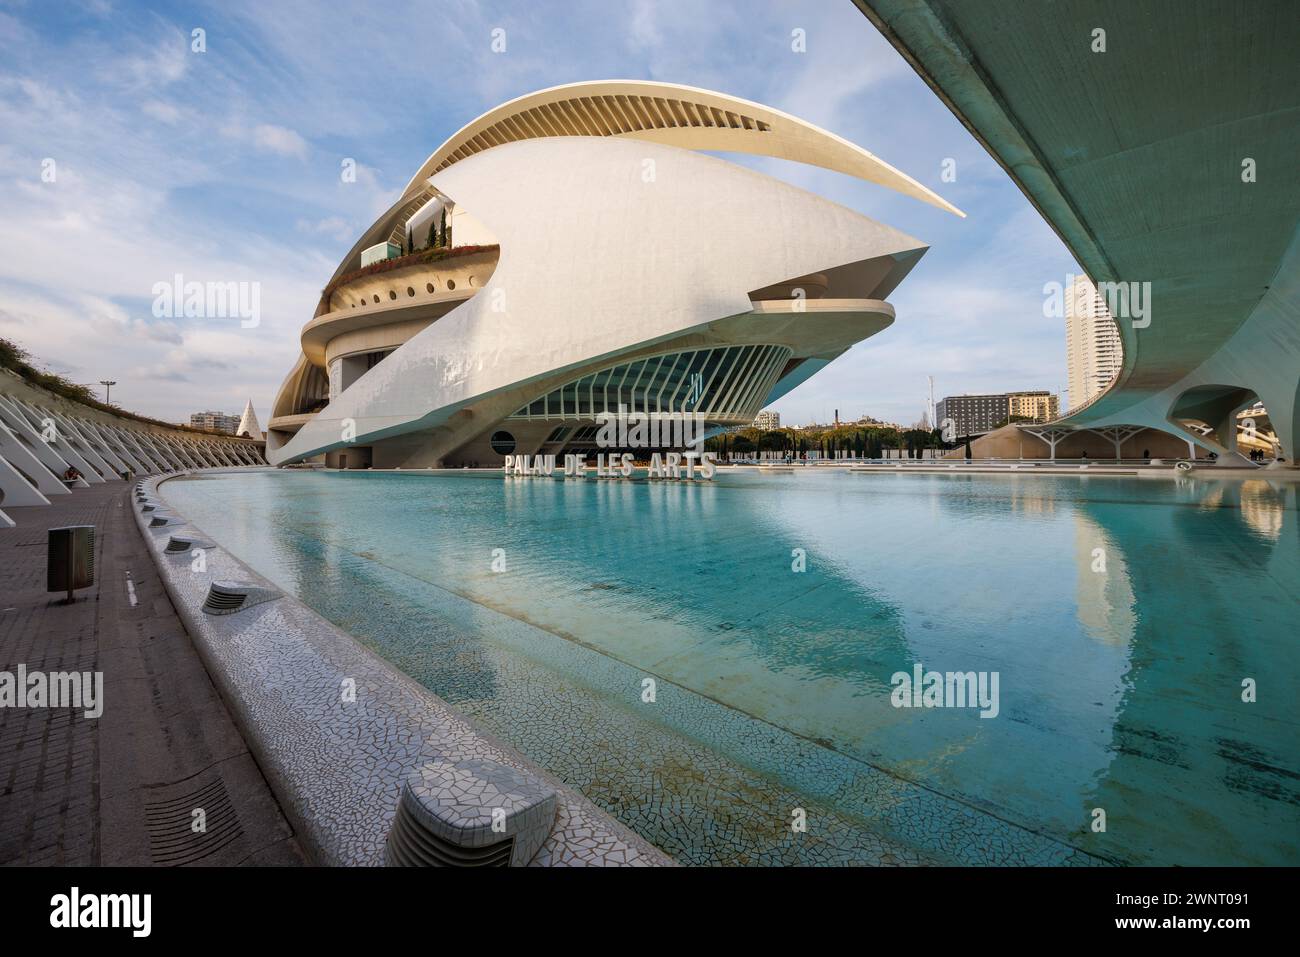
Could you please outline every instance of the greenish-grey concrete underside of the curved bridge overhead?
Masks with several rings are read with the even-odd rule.
[[[1295,459],[1300,5],[855,3],[1095,282],[1150,283],[1149,324],[1118,319],[1115,382],[1063,424],[1152,425],[1223,451],[1222,423],[1206,424],[1226,441],[1187,432],[1179,399],[1248,390]]]

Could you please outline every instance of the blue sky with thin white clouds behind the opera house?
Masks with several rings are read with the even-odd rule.
[[[892,296],[894,325],[783,398],[785,421],[911,424],[927,374],[936,398],[1063,389],[1043,286],[1072,257],[849,0],[0,0],[0,335],[78,382],[117,380],[126,408],[179,421],[251,397],[265,424],[321,286],[422,160],[506,99],[611,78],[776,107],[966,211],[729,157],[931,246]],[[176,273],[259,282],[260,325],[156,319],[153,285]]]

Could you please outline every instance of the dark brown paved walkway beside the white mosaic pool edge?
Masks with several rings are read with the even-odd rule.
[[[5,510],[0,671],[101,671],[104,711],[0,707],[0,865],[304,863],[131,523],[131,488]],[[96,583],[69,606],[44,590],[46,529],[83,524]]]

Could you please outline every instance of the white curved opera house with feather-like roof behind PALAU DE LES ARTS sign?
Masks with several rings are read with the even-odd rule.
[[[961,215],[723,94],[619,81],[511,100],[438,147],[339,264],[273,403],[270,462],[499,464],[594,449],[620,408],[749,424],[893,321],[922,242],[703,151]]]

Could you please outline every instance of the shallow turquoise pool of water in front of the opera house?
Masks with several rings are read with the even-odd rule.
[[[162,494],[686,862],[1300,863],[1294,484],[260,472]],[[894,707],[916,663],[996,672],[998,714]]]

